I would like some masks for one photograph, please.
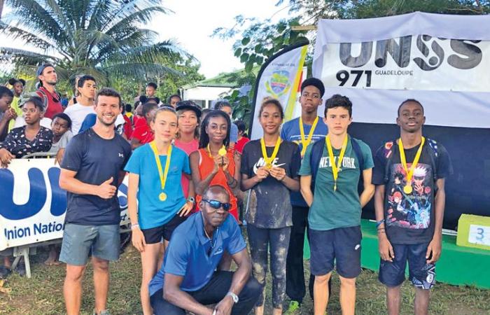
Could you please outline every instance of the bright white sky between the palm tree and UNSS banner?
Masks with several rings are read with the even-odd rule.
[[[275,6],[278,0],[167,0],[163,6],[174,11],[154,18],[149,26],[158,31],[160,40],[175,38],[181,47],[201,62],[200,73],[212,78],[218,73],[242,69],[239,59],[233,55],[233,43],[237,38],[223,41],[211,38],[218,27],[233,27],[235,16],[279,21],[286,18],[285,5]],[[287,1],[285,1],[287,2]],[[285,8],[281,10],[281,8]],[[240,38],[241,39],[241,38]]]

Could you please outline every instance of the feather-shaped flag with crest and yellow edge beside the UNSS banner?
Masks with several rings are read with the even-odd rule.
[[[301,112],[298,107],[298,95],[299,87],[307,75],[303,65],[308,44],[302,42],[284,48],[262,65],[255,84],[249,127],[250,139],[262,137],[258,112],[265,98],[272,97],[281,102],[285,121],[297,117]]]

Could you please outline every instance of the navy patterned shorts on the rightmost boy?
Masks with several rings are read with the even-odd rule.
[[[393,262],[381,259],[379,263],[379,281],[385,286],[400,286],[405,281],[405,269],[409,270],[409,279],[416,288],[428,290],[435,284],[435,265],[426,263],[428,243],[391,244],[395,259]]]

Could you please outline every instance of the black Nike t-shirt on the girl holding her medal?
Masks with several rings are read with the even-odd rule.
[[[270,157],[274,146],[266,147]],[[260,139],[249,141],[241,155],[241,174],[251,178],[257,174],[257,169],[265,165],[262,157]],[[286,170],[286,176],[296,178],[301,166],[300,147],[290,141],[283,140],[272,167]],[[285,228],[293,225],[290,190],[272,176],[267,176],[253,186],[248,201],[246,221],[257,228]]]

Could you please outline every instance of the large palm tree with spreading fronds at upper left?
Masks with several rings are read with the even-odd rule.
[[[0,0],[3,1],[3,0]],[[0,21],[0,33],[20,38],[34,50],[2,47],[0,63],[56,66],[61,78],[77,73],[111,78],[179,74],[171,64],[192,58],[174,41],[155,43],[157,34],[139,27],[158,13],[160,0],[6,0],[12,12]]]

